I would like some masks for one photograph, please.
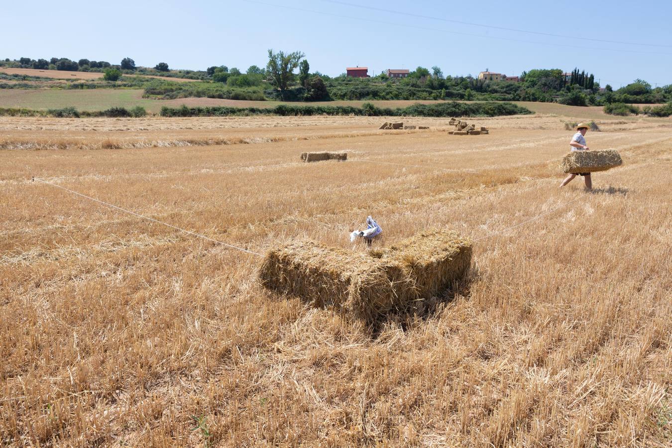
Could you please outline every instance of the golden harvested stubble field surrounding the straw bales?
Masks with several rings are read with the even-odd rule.
[[[597,122],[624,164],[558,189],[587,118],[0,118],[0,445],[669,446],[672,120]],[[373,259],[369,214],[466,276],[404,255],[436,294],[372,324],[263,287],[297,240]]]

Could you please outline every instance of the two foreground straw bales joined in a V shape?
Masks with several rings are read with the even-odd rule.
[[[259,279],[279,294],[370,323],[450,287],[468,271],[471,247],[446,230],[424,232],[375,255],[296,241],[265,255]]]

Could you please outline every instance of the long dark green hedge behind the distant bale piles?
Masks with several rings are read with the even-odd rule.
[[[286,105],[276,107],[161,107],[163,117],[211,117],[211,116],[413,116],[413,117],[494,117],[503,115],[532,114],[532,111],[513,103],[458,103],[451,101],[439,104],[413,104],[408,107],[377,107],[364,103],[362,107],[329,105]]]

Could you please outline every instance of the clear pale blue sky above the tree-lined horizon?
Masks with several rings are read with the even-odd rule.
[[[310,71],[439,66],[445,75],[575,67],[615,88],[672,84],[672,2],[34,0],[3,5],[0,58],[132,58],[171,69],[265,66],[300,51]],[[524,6],[523,6],[524,5]]]

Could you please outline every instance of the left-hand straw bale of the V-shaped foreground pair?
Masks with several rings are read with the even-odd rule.
[[[319,308],[372,320],[412,300],[409,277],[396,263],[310,240],[268,251],[259,268],[263,287]]]

